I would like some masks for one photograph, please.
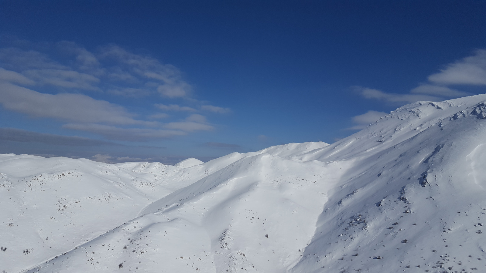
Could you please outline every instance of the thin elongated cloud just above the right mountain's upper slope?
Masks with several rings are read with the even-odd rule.
[[[417,102],[417,101],[437,101],[438,97],[421,95],[421,94],[395,94],[395,93],[385,93],[378,89],[366,88],[361,86],[353,86],[364,98],[366,99],[377,99],[385,102]]]

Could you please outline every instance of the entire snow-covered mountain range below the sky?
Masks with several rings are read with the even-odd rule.
[[[486,95],[203,163],[0,155],[0,270],[486,272]]]

